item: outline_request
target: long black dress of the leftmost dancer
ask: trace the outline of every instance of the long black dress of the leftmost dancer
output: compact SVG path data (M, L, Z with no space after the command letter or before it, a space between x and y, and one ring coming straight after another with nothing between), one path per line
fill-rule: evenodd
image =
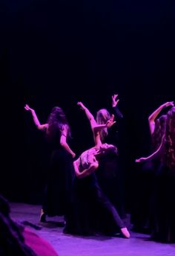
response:
M67 214L74 175L72 156L60 145L60 135L58 129L49 141L51 153L43 210L50 217Z

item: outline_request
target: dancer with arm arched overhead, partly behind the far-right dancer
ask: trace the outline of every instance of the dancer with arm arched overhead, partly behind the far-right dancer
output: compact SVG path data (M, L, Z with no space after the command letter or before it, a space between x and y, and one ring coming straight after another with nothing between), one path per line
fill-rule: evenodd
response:
M162 141L162 135L165 134L166 115L161 115L163 109L168 106L174 106L172 101L163 103L148 117L148 124L151 133L151 150L155 151ZM159 117L159 118L158 118ZM134 195L131 213L131 222L133 230L141 233L150 233L153 222L153 194L156 171L159 170L159 159L146 161L139 170L139 187ZM138 174L137 174L138 177ZM149 184L149 185L148 185ZM137 191L139 190L139 194Z

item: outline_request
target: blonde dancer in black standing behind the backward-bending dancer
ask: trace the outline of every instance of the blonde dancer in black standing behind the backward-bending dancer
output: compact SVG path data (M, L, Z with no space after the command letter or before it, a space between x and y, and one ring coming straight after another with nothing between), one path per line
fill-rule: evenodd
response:
M102 143L114 144L118 149L118 156L115 159L109 157L103 158L100 170L96 173L99 179L99 184L105 194L110 199L110 202L115 205L119 211L120 217L125 219L125 196L124 196L124 178L125 178L125 118L120 112L118 95L112 95L112 109L111 112L115 116L116 125L111 129L102 129L100 131L100 138ZM110 118L110 113L107 109L99 109L96 113L96 123L105 124ZM110 170L110 171L108 171Z

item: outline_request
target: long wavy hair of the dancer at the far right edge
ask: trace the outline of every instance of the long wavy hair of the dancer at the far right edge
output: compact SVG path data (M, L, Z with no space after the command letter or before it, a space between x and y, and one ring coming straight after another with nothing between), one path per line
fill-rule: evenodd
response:
M165 132L165 165L175 168L175 107L167 114L167 125Z

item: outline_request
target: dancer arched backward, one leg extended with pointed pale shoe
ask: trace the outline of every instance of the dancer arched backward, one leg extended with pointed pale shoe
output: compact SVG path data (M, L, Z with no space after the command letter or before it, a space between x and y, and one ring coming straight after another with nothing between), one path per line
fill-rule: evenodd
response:
M100 130L109 128L115 123L113 121L114 116L112 115L106 124L97 125L88 109L82 103L78 104L85 110L89 118L95 147L86 150L76 161L73 161L76 177L78 178L74 183L76 214L74 214L74 220L73 214L71 214L72 220L70 220L70 225L67 225L66 232L89 234L90 231L94 231L93 224L96 224L96 220L98 220L98 216L96 218L94 214L94 209L99 205L102 211L108 211L109 217L113 218L114 225L120 229L122 235L129 238L130 233L128 229L120 219L116 208L108 200L108 197L105 196L105 193L102 192L94 173L98 169L103 156L111 154L116 157L116 147L111 144L102 144L99 135ZM92 205L94 208L92 208Z

